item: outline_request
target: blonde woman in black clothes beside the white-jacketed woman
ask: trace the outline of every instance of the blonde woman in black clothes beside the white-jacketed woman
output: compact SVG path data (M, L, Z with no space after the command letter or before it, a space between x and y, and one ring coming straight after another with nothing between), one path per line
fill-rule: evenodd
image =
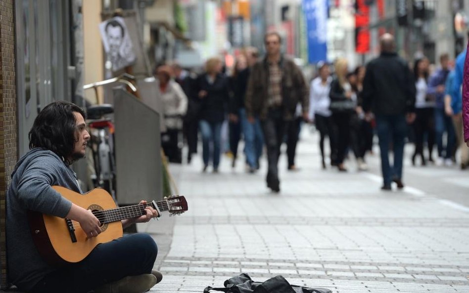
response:
M347 59L338 58L334 67L335 78L330 84L329 108L337 134L337 167L339 171L347 171L343 162L350 141L350 119L356 107L357 97L347 81Z

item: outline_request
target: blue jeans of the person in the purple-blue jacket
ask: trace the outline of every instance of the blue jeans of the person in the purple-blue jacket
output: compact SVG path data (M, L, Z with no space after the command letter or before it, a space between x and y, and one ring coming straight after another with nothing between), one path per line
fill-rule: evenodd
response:
M443 133L446 131L446 146L443 146ZM444 109L435 109L435 135L438 146L438 157L451 159L454 153L456 134L453 119L445 114Z

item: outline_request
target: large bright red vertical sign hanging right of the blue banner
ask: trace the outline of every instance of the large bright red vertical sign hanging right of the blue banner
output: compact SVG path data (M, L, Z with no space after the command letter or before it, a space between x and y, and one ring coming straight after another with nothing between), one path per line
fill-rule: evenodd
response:
M365 54L370 51L370 8L365 0L356 0L355 8L355 51Z

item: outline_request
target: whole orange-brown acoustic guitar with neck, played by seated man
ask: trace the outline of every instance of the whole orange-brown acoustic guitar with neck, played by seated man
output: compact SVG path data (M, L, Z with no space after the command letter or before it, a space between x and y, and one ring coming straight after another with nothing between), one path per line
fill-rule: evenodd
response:
M135 218L146 213L145 207L153 207L171 214L188 210L184 196L165 197L147 205L132 205L117 208L111 195L96 188L85 195L60 186L52 186L64 198L77 206L92 210L101 225L101 233L88 238L77 221L64 219L36 211L28 211L28 221L34 243L39 253L51 265L61 266L83 260L100 243L123 236L121 220Z

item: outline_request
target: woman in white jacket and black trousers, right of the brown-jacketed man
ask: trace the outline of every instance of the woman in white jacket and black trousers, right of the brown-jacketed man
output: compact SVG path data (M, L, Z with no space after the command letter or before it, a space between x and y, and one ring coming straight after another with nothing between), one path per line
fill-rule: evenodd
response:
M330 77L329 65L325 62L318 63L319 76L311 82L310 86L310 119L314 121L316 128L319 130L321 139L319 140L319 148L321 150L322 167L326 168L324 156L324 139L329 137L330 145L330 163L332 166L336 164L337 149L335 143L335 135L331 112L329 110L330 98L329 90L332 78Z

